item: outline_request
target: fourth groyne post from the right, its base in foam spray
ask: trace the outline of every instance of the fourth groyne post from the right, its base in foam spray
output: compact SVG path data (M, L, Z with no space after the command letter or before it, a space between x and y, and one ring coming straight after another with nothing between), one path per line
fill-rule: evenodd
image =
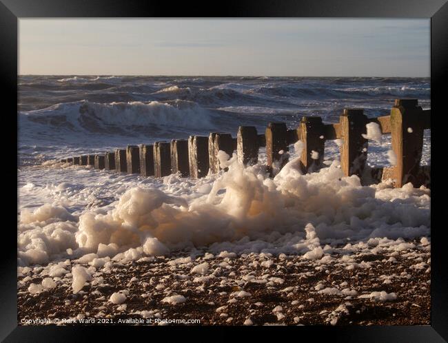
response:
M272 176L274 163L280 162L280 169L287 163L287 127L285 123L269 123L266 128L267 171ZM284 156L283 156L284 155Z

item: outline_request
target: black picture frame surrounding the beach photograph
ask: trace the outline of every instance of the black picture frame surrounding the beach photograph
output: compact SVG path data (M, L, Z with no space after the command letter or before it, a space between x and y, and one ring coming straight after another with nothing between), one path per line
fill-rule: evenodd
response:
M201 8L201 10L198 10ZM137 0L0 0L0 75L3 85L3 118L17 113L17 58L18 19L29 17L387 17L431 18L431 112L443 114L444 82L448 80L448 3L447 0L278 0L226 1L222 3L190 3ZM432 116L431 120L435 121ZM12 117L13 118L13 117ZM438 118L436 119L439 120ZM2 159L14 160L14 123L3 134ZM431 123L431 127L436 125ZM438 123L438 126L440 124ZM15 131L17 132L17 130ZM438 136L432 132L431 137ZM15 136L17 142L17 136ZM433 144L434 145L434 144ZM431 147L432 149L432 147ZM434 163L434 160L432 161ZM436 161L436 163L438 163ZM6 163L8 164L8 163ZM6 165L3 165L6 168ZM438 167L432 167L432 172ZM5 169L6 171L6 169ZM440 173L440 171L439 171ZM8 178L17 176L17 168L10 163ZM431 197L438 196L438 179L431 175ZM436 186L434 186L436 185ZM11 185L17 196L17 187ZM434 189L436 191L434 192ZM14 198L14 196L12 197ZM10 201L8 197L8 202ZM433 202L434 203L434 202ZM17 202L16 202L17 204ZM6 204L4 216L11 225L3 225L8 238L3 238L0 277L0 339L4 342L72 342L92 339L92 328L70 326L17 326L17 225L16 204ZM17 211L17 207L15 209ZM437 216L432 211L431 216ZM440 216L440 214L439 214ZM8 221L9 222L9 221ZM430 326L298 326L294 332L328 335L342 342L444 342L448 340L448 269L442 262L445 250L445 225L431 229L431 325ZM6 237L6 236L3 236ZM6 240L8 239L8 240ZM103 340L114 337L119 329L129 327L96 327ZM159 330L163 328L141 328ZM176 328L165 328L167 333ZM189 328L187 328L189 329ZM246 330L248 328L245 328ZM149 331L145 333L150 334ZM152 334L152 333L151 333ZM297 333L294 333L296 335ZM147 336L149 339L149 336ZM277 336L280 338L281 336ZM299 337L303 336L296 336Z

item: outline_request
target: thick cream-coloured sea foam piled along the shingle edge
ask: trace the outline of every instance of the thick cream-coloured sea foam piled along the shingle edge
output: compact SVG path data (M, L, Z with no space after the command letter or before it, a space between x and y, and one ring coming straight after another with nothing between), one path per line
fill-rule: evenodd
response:
M326 242L429 236L430 191L425 187L363 186L357 176L344 177L337 160L303 175L293 158L272 179L263 165L245 168L235 154L230 160L225 154L219 158L229 170L213 176L206 191L195 196L138 186L107 211L85 209L78 217L49 204L22 211L19 265L88 254L88 262L107 256L136 260L204 245L211 253L320 258Z

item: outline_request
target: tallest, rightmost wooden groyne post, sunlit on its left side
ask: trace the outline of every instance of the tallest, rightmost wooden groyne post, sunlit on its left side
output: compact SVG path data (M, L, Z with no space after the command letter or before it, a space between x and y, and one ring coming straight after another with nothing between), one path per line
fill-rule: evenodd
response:
M424 120L417 99L396 99L390 114L392 149L396 156L393 168L395 187L424 182L420 160L423 148ZM419 175L420 174L420 175Z

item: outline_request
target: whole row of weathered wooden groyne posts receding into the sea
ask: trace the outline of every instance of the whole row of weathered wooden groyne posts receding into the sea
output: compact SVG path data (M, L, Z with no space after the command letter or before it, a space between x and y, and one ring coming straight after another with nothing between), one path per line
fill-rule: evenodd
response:
M391 134L396 156L393 167L366 168L368 140L363 134L367 132L366 124L371 122L379 125L382 134ZM128 145L126 149L105 154L63 158L61 162L156 178L178 172L184 177L202 178L209 171L220 171L217 157L220 150L229 156L236 150L240 163L253 165L258 162L258 150L265 147L267 171L272 175L274 165L281 168L287 163L288 146L300 140L301 169L307 173L323 167L325 141L340 139L340 167L345 176L356 174L363 182L367 171L370 182L390 178L394 187L409 182L414 187L430 187L431 166L420 166L423 131L430 129L430 122L431 110L422 110L416 99L396 99L388 116L367 118L362 109L345 109L336 124L325 124L319 116L304 116L296 129L287 129L285 123L269 123L265 134L258 134L253 126L240 126L236 138L212 132L208 137Z

